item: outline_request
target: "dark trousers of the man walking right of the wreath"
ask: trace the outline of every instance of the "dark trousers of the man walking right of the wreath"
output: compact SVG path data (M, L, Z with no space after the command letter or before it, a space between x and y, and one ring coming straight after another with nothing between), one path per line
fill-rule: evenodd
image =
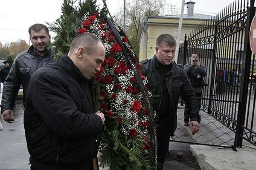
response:
M169 149L170 142L170 133L168 125L165 127L157 127L157 142L157 170L163 170L163 164Z

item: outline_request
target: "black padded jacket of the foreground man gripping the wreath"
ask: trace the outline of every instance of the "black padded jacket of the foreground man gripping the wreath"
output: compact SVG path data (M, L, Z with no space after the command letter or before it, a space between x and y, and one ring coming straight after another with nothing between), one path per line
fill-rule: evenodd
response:
M33 74L24 111L26 142L33 159L52 169L70 166L73 170L88 164L96 156L94 135L102 126L101 118L93 113L87 79L67 55Z

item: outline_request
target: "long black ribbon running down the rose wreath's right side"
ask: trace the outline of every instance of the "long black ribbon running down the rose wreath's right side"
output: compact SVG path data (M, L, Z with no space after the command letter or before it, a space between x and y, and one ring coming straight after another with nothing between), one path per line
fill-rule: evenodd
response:
M156 167L157 164L157 135L156 135L156 124L154 122L154 111L153 111L153 107L150 104L148 97L145 93L145 87L143 84L143 80L140 77L140 73L138 71L137 65L136 65L136 61L135 61L135 55L133 55L132 51L127 47L127 45L125 45L125 43L122 41L121 36L126 37L124 31L122 31L121 28L118 28L119 31L117 30L116 26L114 25L113 21L110 20L106 15L104 15L104 19L107 21L108 26L110 29L112 29L113 31L113 35L116 39L116 42L120 45L120 47L122 48L122 52L125 56L125 58L129 61L132 70L134 71L134 76L137 79L137 82L139 84L140 87L140 91L145 103L145 107L147 108L148 111L148 118L149 118L149 132L150 132L150 141L151 141L151 154L152 154L152 162L153 162L153 166ZM128 42L128 44L131 47L131 44ZM139 61L137 59L137 61Z

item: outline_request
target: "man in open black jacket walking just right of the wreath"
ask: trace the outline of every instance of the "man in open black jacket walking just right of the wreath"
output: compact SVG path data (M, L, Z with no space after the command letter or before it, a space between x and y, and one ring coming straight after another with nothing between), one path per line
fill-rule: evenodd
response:
M190 108L192 135L199 130L200 115L195 90L183 66L173 61L175 48L175 38L170 34L161 34L156 40L154 57L142 61L142 71L148 79L148 88L154 89L160 96L153 105L159 118L157 123L158 170L163 169L170 136L174 136L177 127L177 105L180 95Z

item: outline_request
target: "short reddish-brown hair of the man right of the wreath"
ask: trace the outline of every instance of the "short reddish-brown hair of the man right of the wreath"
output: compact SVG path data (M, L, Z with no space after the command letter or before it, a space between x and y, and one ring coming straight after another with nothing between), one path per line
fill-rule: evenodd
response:
M175 37L170 34L161 34L157 37L156 46L168 45L169 47L173 47L177 45Z

